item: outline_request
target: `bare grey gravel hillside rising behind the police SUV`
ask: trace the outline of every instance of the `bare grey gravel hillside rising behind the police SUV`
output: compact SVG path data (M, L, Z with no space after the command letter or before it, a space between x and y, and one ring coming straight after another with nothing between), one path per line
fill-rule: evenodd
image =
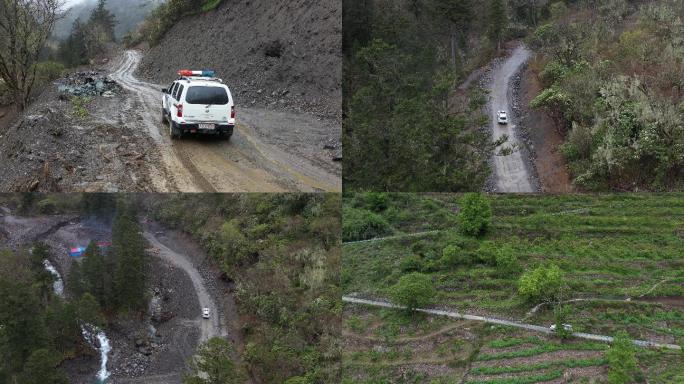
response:
M214 69L238 105L337 116L341 14L339 0L226 0L178 22L139 76L166 84L181 68Z

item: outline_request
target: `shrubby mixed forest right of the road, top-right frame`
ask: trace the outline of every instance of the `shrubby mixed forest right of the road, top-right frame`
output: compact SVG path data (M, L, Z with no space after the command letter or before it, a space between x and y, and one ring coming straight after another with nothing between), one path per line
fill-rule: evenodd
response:
M551 5L529 37L574 182L588 189L681 189L684 1Z

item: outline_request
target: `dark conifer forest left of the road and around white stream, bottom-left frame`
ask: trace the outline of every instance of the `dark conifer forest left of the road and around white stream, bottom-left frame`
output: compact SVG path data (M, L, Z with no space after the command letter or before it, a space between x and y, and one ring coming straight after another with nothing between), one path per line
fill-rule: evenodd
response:
M93 354L82 336L83 324L105 327L147 308L147 257L137 209L113 195L97 194L65 199L27 194L18 205L25 215L66 211L102 214L107 220L116 212L111 249L105 255L95 244L88 246L83 261L73 264L64 298L53 292L54 277L43 264L50 252L46 245L0 250L0 382L67 383L59 365Z

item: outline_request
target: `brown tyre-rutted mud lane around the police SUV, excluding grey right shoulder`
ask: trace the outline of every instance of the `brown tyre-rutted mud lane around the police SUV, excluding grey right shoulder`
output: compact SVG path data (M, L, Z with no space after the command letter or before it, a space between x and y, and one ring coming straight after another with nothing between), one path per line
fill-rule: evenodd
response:
M124 104L125 115L139 116L132 124L149 133L159 148L166 175L170 180L155 182L155 189L180 192L285 192L338 190L335 183L317 180L310 174L319 170L299 172L297 161L288 165L276 149L259 143L249 129L238 125L230 142L215 138L191 138L172 141L164 132L161 120L161 86L136 79L133 73L142 55L126 51L114 63L111 78L136 98L132 105ZM140 104L136 108L135 104ZM142 117L142 119L140 119ZM126 120L125 117L121 118ZM276 157L271 157L269 153ZM285 158L289 161L289 158Z

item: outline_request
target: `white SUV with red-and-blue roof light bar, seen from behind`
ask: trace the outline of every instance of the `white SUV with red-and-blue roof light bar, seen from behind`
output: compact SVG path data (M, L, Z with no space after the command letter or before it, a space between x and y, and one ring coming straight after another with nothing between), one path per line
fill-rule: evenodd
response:
M214 134L229 139L235 129L235 104L230 89L214 71L178 71L162 89L162 121L172 139L187 133Z

